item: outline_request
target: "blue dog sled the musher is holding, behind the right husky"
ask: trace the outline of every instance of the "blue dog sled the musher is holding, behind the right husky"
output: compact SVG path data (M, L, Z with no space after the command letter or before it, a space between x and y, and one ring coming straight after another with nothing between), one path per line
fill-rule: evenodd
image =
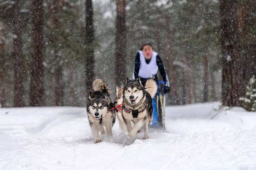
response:
M150 127L165 130L165 82L157 82L157 95L152 99L153 117Z

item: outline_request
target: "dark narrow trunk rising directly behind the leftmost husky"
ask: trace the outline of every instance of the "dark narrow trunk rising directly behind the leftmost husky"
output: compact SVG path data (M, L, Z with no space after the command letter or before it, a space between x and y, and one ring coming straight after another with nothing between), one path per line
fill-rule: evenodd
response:
M94 33L92 0L85 0L85 83L86 91L92 89L94 80Z

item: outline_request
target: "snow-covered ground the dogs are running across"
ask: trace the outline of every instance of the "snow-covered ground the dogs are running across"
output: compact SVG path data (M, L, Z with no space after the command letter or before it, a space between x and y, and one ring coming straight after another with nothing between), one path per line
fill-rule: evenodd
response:
M94 144L85 108L0 108L0 170L256 170L256 113L173 106L166 128Z

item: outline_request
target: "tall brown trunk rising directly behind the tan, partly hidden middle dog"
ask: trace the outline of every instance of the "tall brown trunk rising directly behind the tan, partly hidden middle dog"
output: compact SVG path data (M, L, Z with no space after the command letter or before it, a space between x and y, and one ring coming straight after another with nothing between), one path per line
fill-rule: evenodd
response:
M126 1L116 0L117 15L116 15L116 51L115 51L115 82L121 87L126 83Z

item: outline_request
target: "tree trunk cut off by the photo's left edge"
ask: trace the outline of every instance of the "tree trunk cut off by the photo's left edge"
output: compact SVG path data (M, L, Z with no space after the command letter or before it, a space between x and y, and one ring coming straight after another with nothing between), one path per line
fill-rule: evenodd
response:
M7 73L5 60L5 43L0 39L0 105L6 107L6 91L7 91Z

